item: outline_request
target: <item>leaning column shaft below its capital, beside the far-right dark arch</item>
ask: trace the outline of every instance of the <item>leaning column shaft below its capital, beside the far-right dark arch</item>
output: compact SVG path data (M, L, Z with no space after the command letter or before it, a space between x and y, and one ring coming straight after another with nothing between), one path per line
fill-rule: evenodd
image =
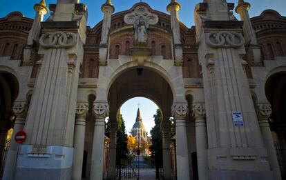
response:
M267 148L268 161L270 163L271 170L273 171L274 179L280 180L281 179L280 169L278 165L276 150L274 148L274 141L273 141L272 134L269 128L268 120L258 119L258 121L259 121L260 131L263 137L263 141Z

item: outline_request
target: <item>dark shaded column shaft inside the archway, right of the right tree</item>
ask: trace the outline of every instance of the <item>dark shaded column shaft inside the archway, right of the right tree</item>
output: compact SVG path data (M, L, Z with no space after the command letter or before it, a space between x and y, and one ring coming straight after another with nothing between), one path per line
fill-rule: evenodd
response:
M165 180L171 180L171 149L170 149L170 122L165 120L161 123L163 140L163 173Z

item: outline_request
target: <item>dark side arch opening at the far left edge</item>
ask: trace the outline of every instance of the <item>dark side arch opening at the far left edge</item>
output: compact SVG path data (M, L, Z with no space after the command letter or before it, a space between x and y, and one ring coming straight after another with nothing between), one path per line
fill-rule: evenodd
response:
M6 162L15 115L12 104L19 93L17 78L9 72L0 72L0 177Z

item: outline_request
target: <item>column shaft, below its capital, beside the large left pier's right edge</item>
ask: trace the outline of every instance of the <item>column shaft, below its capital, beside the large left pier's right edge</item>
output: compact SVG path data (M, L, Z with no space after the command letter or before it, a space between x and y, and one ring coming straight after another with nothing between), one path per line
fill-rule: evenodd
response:
M73 180L82 179L82 163L84 160L84 134L86 131L86 119L75 119L75 137L73 153Z

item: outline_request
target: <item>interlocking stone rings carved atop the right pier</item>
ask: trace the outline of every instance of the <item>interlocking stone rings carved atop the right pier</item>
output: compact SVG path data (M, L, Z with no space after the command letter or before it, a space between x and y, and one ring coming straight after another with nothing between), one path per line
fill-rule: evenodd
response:
M212 48L240 48L245 44L242 34L237 32L209 32L206 36Z

